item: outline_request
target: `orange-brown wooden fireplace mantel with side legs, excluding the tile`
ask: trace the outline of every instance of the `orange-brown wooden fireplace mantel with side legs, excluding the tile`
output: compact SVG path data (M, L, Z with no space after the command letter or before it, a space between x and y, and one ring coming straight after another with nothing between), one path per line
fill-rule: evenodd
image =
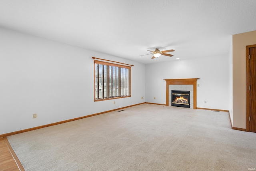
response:
M199 78L164 79L166 81L166 105L169 105L169 85L193 85L194 105L196 109L196 81Z

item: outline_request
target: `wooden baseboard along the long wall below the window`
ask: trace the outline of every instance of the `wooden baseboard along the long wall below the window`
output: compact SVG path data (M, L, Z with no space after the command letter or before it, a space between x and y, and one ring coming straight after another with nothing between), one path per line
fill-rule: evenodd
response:
M130 105L130 106L126 106L126 107L120 107L120 108L118 108L118 109L103 111L103 112L100 112L100 113L94 113L94 114L92 114L92 115L86 115L86 116L77 117L77 118L74 118L74 119L68 119L68 120L65 120L65 121L60 121L60 122L55 122L55 123L50 123L50 124L42 125L42 126L38 126L38 127L32 127L32 128L28 128L28 129L23 129L23 130L20 130L20 131L5 133L5 134L0 135L0 137L7 137L7 136L15 135L15 134L18 134L18 133L23 133L23 132L27 132L27 131L32 131L32 130L36 130L36 129L40 129L40 128L44 128L44 127L50 127L50 126L53 126L53 125L58 125L58 124L61 124L61 123L66 123L66 122L70 122L70 121L75 121L75 120L78 120L78 119L84 119L84 118L86 118L86 117L91 117L91 116L95 116L95 115L100 115L100 114L103 114L103 113L108 113L108 112L111 112L111 111L116 111L116 110L124 109L124 108L127 108L127 107L132 107L132 106L136 106L136 105L141 105L141 104L144 104L144 103L138 103L138 104L135 104L135 105Z

